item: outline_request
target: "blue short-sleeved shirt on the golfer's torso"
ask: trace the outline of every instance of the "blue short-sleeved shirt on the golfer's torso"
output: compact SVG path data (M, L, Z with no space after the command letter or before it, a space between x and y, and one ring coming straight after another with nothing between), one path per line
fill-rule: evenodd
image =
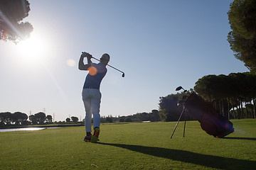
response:
M90 63L89 66L94 67L92 69L96 70L96 74L95 75L90 74L90 70L89 70L89 73L87 74L87 77L85 79L85 84L83 86L83 89L89 88L89 87L100 89L100 83L102 79L105 77L105 75L107 74L106 65L99 62L98 64Z

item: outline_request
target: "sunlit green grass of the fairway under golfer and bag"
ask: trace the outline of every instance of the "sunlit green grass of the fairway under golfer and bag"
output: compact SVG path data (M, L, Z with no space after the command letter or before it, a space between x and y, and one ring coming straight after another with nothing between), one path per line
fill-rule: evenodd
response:
M0 132L0 169L255 169L256 120L231 120L235 132L207 135L197 121L102 124L100 143L84 127Z

